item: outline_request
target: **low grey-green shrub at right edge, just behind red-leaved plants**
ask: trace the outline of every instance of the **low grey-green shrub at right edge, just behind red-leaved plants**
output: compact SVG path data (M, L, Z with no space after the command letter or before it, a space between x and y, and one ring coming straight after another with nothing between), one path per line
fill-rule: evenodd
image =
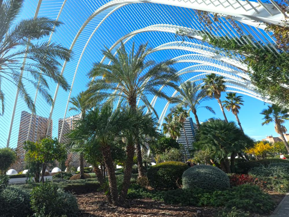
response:
M289 178L289 164L288 163L271 163L268 167L261 165L259 167L252 168L248 172L251 175L263 176L263 177L277 177L277 178Z

